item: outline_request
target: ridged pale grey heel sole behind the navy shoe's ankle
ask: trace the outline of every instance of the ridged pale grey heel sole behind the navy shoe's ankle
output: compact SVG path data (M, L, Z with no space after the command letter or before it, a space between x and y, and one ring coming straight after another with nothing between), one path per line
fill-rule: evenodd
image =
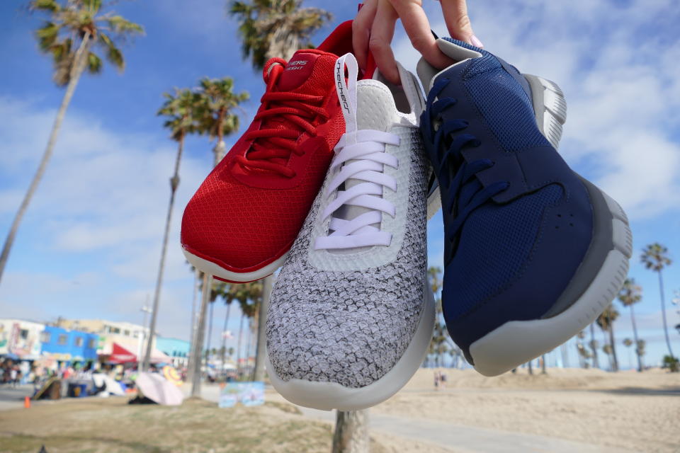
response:
M543 77L523 74L529 86L536 124L545 138L557 149L562 139L562 125L567 121L567 101L557 84Z

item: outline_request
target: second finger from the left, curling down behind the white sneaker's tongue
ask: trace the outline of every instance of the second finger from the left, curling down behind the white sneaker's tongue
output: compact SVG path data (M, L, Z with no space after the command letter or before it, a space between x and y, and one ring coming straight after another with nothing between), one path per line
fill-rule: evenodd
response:
M368 48L385 79L392 84L399 84L399 70L392 47L390 47L392 38L395 36L395 23L397 23L397 12L390 2L378 0L378 11L375 11L373 27L370 28Z

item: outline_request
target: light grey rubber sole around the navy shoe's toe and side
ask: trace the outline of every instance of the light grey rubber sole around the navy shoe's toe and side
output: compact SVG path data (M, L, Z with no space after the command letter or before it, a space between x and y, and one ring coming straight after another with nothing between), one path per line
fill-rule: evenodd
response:
M572 306L548 319L509 321L470 345L475 369L497 376L565 343L591 322L616 297L628 273L633 235L616 201L602 193L613 216L613 249L584 294Z

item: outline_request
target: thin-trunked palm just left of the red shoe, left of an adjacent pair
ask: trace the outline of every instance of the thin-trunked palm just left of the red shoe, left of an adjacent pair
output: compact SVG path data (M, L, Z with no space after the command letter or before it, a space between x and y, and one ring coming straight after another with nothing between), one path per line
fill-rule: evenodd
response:
M158 265L158 276L156 279L156 289L154 291L154 305L151 312L151 323L149 324L149 340L142 362L142 371L146 370L151 360L153 339L156 332L156 319L158 316L158 305L161 298L161 287L163 284L163 273L165 271L165 257L168 248L168 237L170 234L170 223L172 220L172 209L175 204L175 193L179 186L179 164L184 151L184 139L187 134L196 132L196 120L193 110L196 106L196 95L188 89L180 90L175 88L175 94L164 93L165 102L158 110L158 115L166 117L163 126L170 130L170 137L177 142L177 154L175 156L174 173L170 178L170 201L168 202L168 214L165 218L165 231L163 233L163 246L161 248L161 260ZM199 349L200 351L200 349Z

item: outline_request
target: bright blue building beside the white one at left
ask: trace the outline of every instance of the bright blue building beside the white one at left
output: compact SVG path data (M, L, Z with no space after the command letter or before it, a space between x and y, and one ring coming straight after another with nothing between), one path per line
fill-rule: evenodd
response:
M99 336L96 333L72 331L67 328L45 326L40 337L42 355L57 362L96 362Z

